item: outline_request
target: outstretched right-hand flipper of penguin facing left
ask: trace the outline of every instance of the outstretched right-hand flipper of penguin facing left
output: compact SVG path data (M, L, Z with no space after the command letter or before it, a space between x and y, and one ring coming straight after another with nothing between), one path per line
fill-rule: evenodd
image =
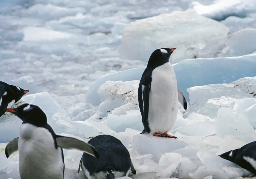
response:
M99 158L99 152L90 144L72 137L56 136L57 145L63 149L77 149Z

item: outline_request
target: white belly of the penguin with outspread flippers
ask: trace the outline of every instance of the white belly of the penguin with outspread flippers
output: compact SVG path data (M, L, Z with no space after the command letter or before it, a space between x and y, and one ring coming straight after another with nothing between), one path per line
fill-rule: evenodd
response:
M19 159L21 179L63 179L61 148L55 148L53 137L45 128L22 124Z

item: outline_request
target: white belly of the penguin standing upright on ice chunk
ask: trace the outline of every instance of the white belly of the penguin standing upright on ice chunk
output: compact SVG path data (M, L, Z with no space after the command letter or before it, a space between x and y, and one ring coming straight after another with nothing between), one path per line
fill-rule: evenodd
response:
M149 93L149 128L151 133L172 129L178 115L177 80L170 62L152 72Z

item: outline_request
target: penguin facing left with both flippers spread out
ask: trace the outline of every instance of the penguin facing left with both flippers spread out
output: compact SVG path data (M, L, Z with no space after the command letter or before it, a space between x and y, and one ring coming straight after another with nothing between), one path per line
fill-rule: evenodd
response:
M19 171L21 179L63 179L63 149L78 149L93 157L99 157L98 151L91 145L75 138L55 134L45 113L32 104L22 104L7 109L22 121L20 137L13 139L5 148L8 158L19 150Z

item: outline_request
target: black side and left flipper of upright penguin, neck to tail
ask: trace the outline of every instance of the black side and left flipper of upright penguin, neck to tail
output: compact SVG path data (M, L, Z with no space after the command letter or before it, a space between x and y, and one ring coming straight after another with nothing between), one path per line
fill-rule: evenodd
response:
M140 85L138 89L138 99L139 99L139 106L140 106L140 112L142 116L142 123L144 126L144 130L141 134L149 133L149 125L148 125L148 114L149 114L149 92L151 88L151 74L152 71L145 69L141 80Z

